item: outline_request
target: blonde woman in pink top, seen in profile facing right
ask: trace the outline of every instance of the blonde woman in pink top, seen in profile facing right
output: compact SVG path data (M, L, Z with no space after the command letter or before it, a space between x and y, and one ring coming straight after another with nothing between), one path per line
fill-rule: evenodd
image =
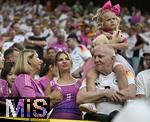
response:
M34 75L39 72L41 64L42 60L38 58L35 50L26 49L19 54L14 69L17 75L12 87L14 97L45 97L45 94L38 85L38 81L34 79ZM56 94L58 98L61 98L61 94L56 91L51 96L56 97ZM51 99L50 95L47 96ZM24 101L19 101L18 105L24 109ZM30 108L27 109L30 110ZM30 112L28 114L30 115Z

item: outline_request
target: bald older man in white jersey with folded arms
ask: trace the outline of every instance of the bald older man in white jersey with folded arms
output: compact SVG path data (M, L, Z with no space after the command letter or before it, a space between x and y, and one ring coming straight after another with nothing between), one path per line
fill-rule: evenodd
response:
M112 112L120 111L123 103L135 96L134 75L132 72L126 73L128 87L119 91L117 78L113 72L115 51L106 45L102 45L95 49L94 60L98 72L98 78L95 81L97 91L86 91L86 83L83 82L77 95L77 103L96 102L97 114L88 114L90 117L87 119L109 121Z

